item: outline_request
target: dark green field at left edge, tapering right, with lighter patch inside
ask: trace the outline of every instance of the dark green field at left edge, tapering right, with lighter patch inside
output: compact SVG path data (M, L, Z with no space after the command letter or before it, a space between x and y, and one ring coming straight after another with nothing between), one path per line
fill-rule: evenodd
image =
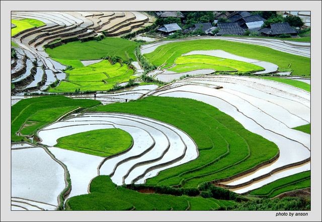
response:
M40 96L23 99L11 107L11 140L21 141L23 136L16 133L33 134L67 112L78 107L89 108L101 104L99 101L64 96Z

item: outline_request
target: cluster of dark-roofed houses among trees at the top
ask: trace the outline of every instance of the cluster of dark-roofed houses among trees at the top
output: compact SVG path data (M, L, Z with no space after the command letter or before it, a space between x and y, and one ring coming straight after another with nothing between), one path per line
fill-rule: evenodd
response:
M159 12L157 16L160 18L180 18L184 22L185 16L181 12ZM220 19L224 19L228 22L221 23ZM266 20L259 15L251 15L246 11L238 12L221 12L215 17L212 23L197 23L189 28L182 29L177 23L165 24L157 29L163 35L171 35L172 33L182 30L183 33L189 33L194 31L202 31L207 35L244 35L246 30L251 33L257 32L264 36L277 36L282 34L297 35L297 31L293 29L287 22L270 24L269 26L262 28Z

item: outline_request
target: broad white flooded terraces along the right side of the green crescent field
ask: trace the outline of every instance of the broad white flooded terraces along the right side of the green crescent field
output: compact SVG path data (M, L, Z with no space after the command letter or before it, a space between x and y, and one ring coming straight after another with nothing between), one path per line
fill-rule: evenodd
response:
M213 86L222 86L223 89L216 90ZM283 92L276 91L276 88L282 89ZM252 91L254 93L250 94ZM265 102L267 94L271 99L274 96L279 98L277 99L276 97L274 102ZM278 82L263 81L256 78L213 76L188 78L176 82L172 86L170 85L159 92L153 93L153 95L186 97L203 101L229 114L247 129L262 135L278 145L280 154L274 164L271 164L267 168L263 167L249 174L247 177L240 177L240 179L224 182L223 184L228 187L236 188L247 185L250 180L267 174L268 172L274 172L282 166L309 160L309 135L300 131L294 131L291 128L305 123L307 124L310 121L310 96L306 91L289 87L288 85L279 85ZM283 100L285 101L284 103L282 103ZM299 106L302 108L299 109ZM305 109L307 111L304 111ZM278 129L276 128L277 125L279 125ZM287 145L290 143L292 145ZM285 147L285 150L283 147ZM289 147L292 147L293 157L290 157ZM300 168L298 170L303 169ZM210 178L211 175L199 178L199 183L201 181L210 181ZM197 185L198 182L190 182L189 184ZM185 186L189 184L186 183ZM256 186L255 184L256 182L254 186ZM258 183L258 185L260 184ZM251 187L245 189L240 188L240 192L246 192L246 189L251 189ZM235 192L239 191L235 190Z

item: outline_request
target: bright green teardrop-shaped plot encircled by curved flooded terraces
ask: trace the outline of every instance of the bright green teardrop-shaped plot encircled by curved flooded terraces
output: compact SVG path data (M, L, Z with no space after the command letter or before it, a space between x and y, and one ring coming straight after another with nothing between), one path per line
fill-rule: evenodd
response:
M122 129L97 129L61 137L55 146L108 157L127 150L132 143L132 136Z

